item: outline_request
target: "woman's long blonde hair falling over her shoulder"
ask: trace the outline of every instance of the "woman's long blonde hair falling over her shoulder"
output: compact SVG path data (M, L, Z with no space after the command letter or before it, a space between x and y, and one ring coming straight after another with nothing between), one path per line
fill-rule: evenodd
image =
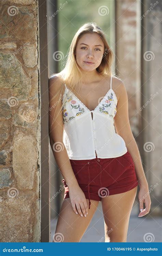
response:
M69 95L69 93L67 95L65 95L65 94L63 95L63 91L65 89L65 84L68 85L68 88L70 88L70 91L75 92L76 85L77 85L77 89L80 90L80 88L82 87L82 85L84 83L84 76L83 76L83 74L78 66L78 63L76 61L75 51L76 51L78 40L85 33L97 33L100 36L100 38L103 40L104 54L103 54L102 61L101 61L100 65L96 68L96 71L101 75L102 74L108 75L108 76L112 75L111 65L113 63L114 55L112 53L111 48L109 47L109 45L107 43L107 40L106 40L106 37L104 35L102 28L97 26L97 24L95 22L88 22L88 23L83 24L79 28L79 30L76 32L75 36L72 39L71 45L70 45L68 53L67 53L67 60L65 61L65 67L59 73L61 76L61 80L62 80L62 86L61 86L60 90L58 91L58 93L60 93L60 96L62 97L63 105ZM56 97L56 95L54 95L54 97ZM62 109L60 109L60 111L61 110Z

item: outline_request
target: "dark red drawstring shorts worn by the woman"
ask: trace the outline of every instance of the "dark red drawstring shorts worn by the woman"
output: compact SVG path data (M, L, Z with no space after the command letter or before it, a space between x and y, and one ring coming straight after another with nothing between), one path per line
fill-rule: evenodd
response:
M70 159L72 170L80 188L89 199L101 201L102 197L129 191L138 185L132 156L127 151L116 158L96 158L91 160ZM64 199L69 198L66 181Z

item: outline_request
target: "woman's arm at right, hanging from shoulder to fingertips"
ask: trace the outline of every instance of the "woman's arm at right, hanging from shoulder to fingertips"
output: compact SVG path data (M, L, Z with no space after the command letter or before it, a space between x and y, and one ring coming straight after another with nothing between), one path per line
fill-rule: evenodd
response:
M120 82L119 82L120 81ZM137 143L134 139L128 114L128 97L124 83L118 79L117 95L119 95L117 104L117 113L114 117L114 125L116 132L124 139L127 151L131 154L136 176L139 184L139 209L142 211L139 213L139 217L146 215L150 211L151 199L149 194L149 188L147 179L142 166ZM144 209L145 203L145 209Z

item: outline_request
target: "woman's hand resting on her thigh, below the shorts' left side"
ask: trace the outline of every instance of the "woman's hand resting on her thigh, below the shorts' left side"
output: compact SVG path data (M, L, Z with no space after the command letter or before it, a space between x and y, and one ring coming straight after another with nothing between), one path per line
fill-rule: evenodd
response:
M88 214L88 205L85 195L79 185L69 190L69 197L71 200L72 209L75 211L75 213L78 214L79 212L81 217L83 217L83 215L86 217L86 214Z

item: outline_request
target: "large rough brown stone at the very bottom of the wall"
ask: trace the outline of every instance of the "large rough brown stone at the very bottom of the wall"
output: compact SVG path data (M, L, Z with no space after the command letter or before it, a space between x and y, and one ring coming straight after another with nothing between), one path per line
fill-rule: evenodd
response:
M40 242L39 199L32 191L17 191L1 196L0 242Z

